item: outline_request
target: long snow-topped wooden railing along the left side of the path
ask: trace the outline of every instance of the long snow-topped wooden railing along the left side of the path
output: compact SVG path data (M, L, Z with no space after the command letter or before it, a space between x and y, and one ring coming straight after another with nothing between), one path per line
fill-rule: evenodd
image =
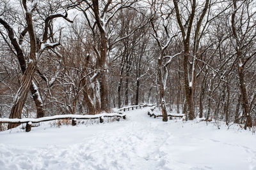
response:
M135 106L129 106L125 108L120 108L118 111L125 111L125 110L134 110L134 108L145 108L147 106L155 106L156 104L138 104ZM0 118L0 124L26 124L26 132L31 131L32 124L40 123L40 122L47 122L51 120L63 120L63 119L72 119L72 125L77 125L77 119L97 119L99 118L100 123L104 122L104 117L116 117L117 121L120 118L126 119L126 115L122 112L118 113L102 113L98 115L56 115L52 117L42 117L42 118Z

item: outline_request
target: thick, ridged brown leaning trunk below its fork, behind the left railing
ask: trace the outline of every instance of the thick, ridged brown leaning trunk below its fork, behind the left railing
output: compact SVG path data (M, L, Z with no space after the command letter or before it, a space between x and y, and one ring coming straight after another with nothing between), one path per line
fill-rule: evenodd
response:
M31 86L32 78L36 70L35 62L29 62L25 73L22 76L20 88L16 94L15 101L12 106L9 118L21 118L22 109L28 97L29 88ZM17 127L19 124L8 124L8 129Z

